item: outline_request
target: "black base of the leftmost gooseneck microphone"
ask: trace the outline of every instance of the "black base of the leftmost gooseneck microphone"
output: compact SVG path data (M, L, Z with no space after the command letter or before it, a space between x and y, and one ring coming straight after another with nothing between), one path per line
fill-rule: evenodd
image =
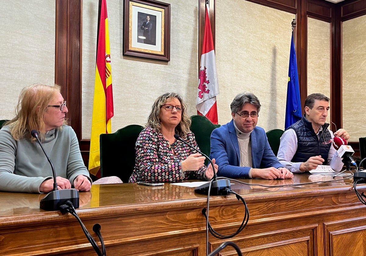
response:
M79 191L76 189L60 189L49 192L40 201L40 208L46 211L58 211L60 205L70 200L74 208L79 208Z

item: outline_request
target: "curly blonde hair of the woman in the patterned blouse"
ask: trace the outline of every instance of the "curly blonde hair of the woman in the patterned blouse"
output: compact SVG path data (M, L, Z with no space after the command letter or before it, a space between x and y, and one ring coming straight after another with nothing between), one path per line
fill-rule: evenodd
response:
M187 133L189 131L189 128L191 126L191 117L187 114L187 105L184 103L183 97L178 93L165 93L158 97L151 109L150 115L147 118L146 127L153 128L157 133L161 132L161 125L160 125L160 112L161 112L161 106L163 106L165 103L167 103L169 100L176 98L179 100L180 105L182 105L182 119L180 120L180 123L175 128L176 133L182 137L186 138Z

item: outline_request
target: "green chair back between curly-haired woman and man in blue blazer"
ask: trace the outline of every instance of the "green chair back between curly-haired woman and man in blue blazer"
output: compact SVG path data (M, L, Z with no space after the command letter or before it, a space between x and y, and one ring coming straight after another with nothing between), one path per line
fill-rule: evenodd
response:
M220 127L220 124L213 124L204 116L194 115L191 116L192 124L190 130L194 133L196 142L202 153L210 156L211 143L210 136L214 129ZM205 160L205 165L208 164L208 160Z

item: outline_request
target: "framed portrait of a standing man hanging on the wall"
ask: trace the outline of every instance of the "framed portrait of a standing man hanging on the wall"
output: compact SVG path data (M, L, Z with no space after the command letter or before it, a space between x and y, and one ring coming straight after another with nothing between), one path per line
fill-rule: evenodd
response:
M124 0L123 54L170 60L170 4Z

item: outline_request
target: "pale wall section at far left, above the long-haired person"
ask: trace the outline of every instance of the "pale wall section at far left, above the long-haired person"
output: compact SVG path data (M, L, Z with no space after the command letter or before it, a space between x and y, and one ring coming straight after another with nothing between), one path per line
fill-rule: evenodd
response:
M55 1L1 1L0 119L14 117L20 90L55 83Z

